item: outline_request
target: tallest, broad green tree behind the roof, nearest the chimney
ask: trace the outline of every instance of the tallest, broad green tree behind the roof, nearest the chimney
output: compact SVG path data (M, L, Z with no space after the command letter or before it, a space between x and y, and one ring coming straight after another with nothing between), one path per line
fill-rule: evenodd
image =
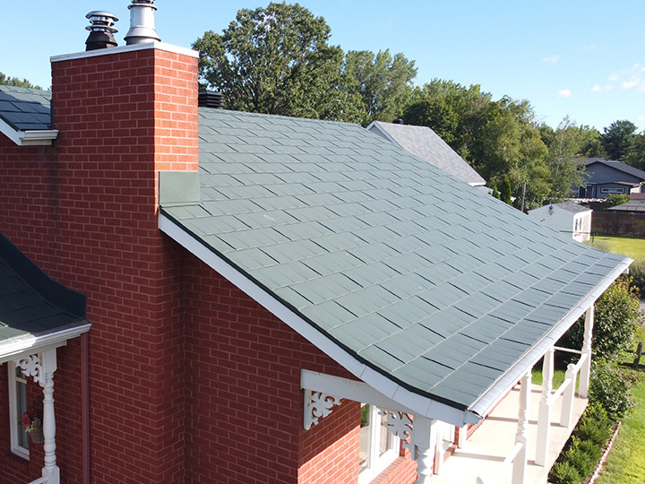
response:
M342 50L328 45L330 27L299 4L242 9L219 35L197 39L202 82L228 108L295 117L352 117L340 90ZM348 114L350 113L350 114Z

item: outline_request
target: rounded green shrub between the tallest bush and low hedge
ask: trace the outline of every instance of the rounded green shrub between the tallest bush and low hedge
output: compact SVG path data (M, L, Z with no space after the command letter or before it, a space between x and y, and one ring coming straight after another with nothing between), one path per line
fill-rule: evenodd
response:
M634 406L636 376L606 361L596 362L589 378L589 402L598 402L610 419L621 419Z

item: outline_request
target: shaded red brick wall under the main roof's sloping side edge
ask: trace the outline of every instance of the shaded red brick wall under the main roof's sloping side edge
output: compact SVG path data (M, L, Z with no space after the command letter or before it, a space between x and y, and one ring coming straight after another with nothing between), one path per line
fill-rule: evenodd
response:
M300 368L347 371L193 256L185 297L186 482L305 483L300 454L325 426L303 428ZM332 441L356 433L358 415Z

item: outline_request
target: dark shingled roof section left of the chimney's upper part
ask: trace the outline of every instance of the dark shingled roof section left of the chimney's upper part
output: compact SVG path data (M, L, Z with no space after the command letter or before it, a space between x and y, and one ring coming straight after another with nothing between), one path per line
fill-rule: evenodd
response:
M17 131L51 129L51 92L0 85L0 118Z

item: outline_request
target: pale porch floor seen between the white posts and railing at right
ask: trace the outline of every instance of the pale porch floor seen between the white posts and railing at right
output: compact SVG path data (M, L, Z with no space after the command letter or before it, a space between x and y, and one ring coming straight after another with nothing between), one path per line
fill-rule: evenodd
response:
M570 428L562 428L557 423L560 420L562 397L555 402L552 410L551 443L547 465L540 467L535 463L536 439L538 434L538 404L541 389L533 385L529 407L529 464L527 466L526 484L544 484L548 471L560 454L564 444L571 435L572 429L580 419L587 406L587 400L576 397L573 403L573 419ZM511 453L515 445L517 419L519 412L520 385L495 408L485 422L477 428L463 449L457 449L445 462L439 475L431 478L432 484L475 484L477 476L487 479L495 476L503 460ZM511 484L512 465L509 465L497 484Z

